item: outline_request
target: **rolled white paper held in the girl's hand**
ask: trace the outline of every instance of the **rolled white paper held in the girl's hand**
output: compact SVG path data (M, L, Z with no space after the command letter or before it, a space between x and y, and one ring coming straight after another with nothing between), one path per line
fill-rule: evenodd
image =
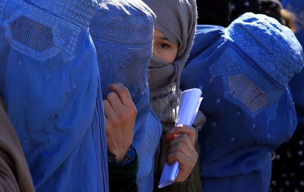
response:
M192 126L203 99L201 95L201 89L197 88L188 89L181 93L175 126L180 124ZM172 184L178 175L178 170L178 161L175 161L171 165L168 165L167 162L165 162L158 187L163 188Z

